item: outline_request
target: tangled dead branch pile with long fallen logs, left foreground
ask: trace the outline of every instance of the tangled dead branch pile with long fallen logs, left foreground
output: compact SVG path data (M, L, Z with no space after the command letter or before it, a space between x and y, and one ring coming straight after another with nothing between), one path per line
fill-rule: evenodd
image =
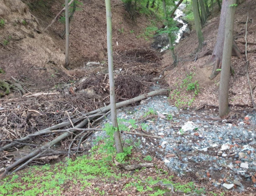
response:
M168 93L167 89L160 89L158 91L142 94L133 99L117 103L117 108L133 104L150 96L166 93ZM38 108L36 104L39 104L38 102L41 97L36 98L37 99L30 97L30 107L34 107L34 109L26 107L20 108L20 106L17 105L17 102L20 104L22 100L24 101L26 99L25 97L22 98L21 102L19 99L0 99L1 105L4 106L1 106L0 110L0 123L3 125L3 133L5 133L4 135L1 133L0 136L0 158L2 161L0 178L3 178L8 173L18 171L30 163L44 162L44 160L47 159L46 157L49 158L49 156L51 156L51 158L56 158L62 154L68 154L68 157L70 155L75 156L77 152L84 150L81 144L86 137L93 133L93 131L101 130L94 128L94 125L110 111L110 106L106 106L93 110L92 112L79 112L77 108L72 107L68 109L67 104L62 105L59 110L56 110L56 105L49 105L49 103L48 105L41 104L41 107ZM6 105L4 103L6 103ZM16 103L15 107L7 107L7 105L14 103ZM33 103L35 103L35 106L32 105ZM49 112L49 108L50 110L52 109L51 112ZM17 111L14 113L15 110ZM19 113L20 116L18 116L17 113ZM38 125L41 123L39 119L46 119L49 118L49 116L51 116L50 118L52 122L54 122L52 126L39 129L40 126ZM10 121L7 121L7 119ZM30 128L31 125L32 128ZM61 145L58 149L56 145L59 145L59 143ZM26 149L29 152L19 150L22 146L29 146L30 148ZM15 160L14 154L11 153L11 151L15 149L17 152L25 152L25 154Z

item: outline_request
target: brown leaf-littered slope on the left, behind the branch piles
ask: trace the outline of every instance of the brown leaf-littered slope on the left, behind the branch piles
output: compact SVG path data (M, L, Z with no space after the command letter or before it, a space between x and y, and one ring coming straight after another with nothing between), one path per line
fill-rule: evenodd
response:
M35 0L1 0L0 20L0 67L6 72L2 80L26 81L33 90L49 89L54 84L86 75L88 61L99 61L107 69L107 41L105 3L102 0L81 1L70 25L70 68L65 70L65 40L59 34L64 23L56 22L47 31L43 29L63 8L63 2ZM112 3L113 43L115 55L134 47L146 47L149 43L138 38L151 24L149 16L138 13L132 22L122 1ZM137 36L137 37L136 37ZM118 63L116 63L118 64ZM30 86L31 87L31 86Z

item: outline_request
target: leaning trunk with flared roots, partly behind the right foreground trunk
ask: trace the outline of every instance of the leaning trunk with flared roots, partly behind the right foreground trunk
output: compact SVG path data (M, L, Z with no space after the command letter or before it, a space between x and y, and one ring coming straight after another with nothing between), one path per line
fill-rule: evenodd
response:
M217 34L217 41L215 44L215 47L213 49L212 55L207 63L205 63L205 66L213 66L212 74L210 75L210 79L212 80L215 78L220 71L217 71L217 69L221 68L221 61L223 57L223 46L225 41L225 25L226 25L226 17L228 13L228 2L223 1L222 2L222 9L220 12L220 24L218 27L218 34ZM237 57L241 58L241 53L239 52L239 49L236 45L236 43L233 40L233 55L236 55Z

